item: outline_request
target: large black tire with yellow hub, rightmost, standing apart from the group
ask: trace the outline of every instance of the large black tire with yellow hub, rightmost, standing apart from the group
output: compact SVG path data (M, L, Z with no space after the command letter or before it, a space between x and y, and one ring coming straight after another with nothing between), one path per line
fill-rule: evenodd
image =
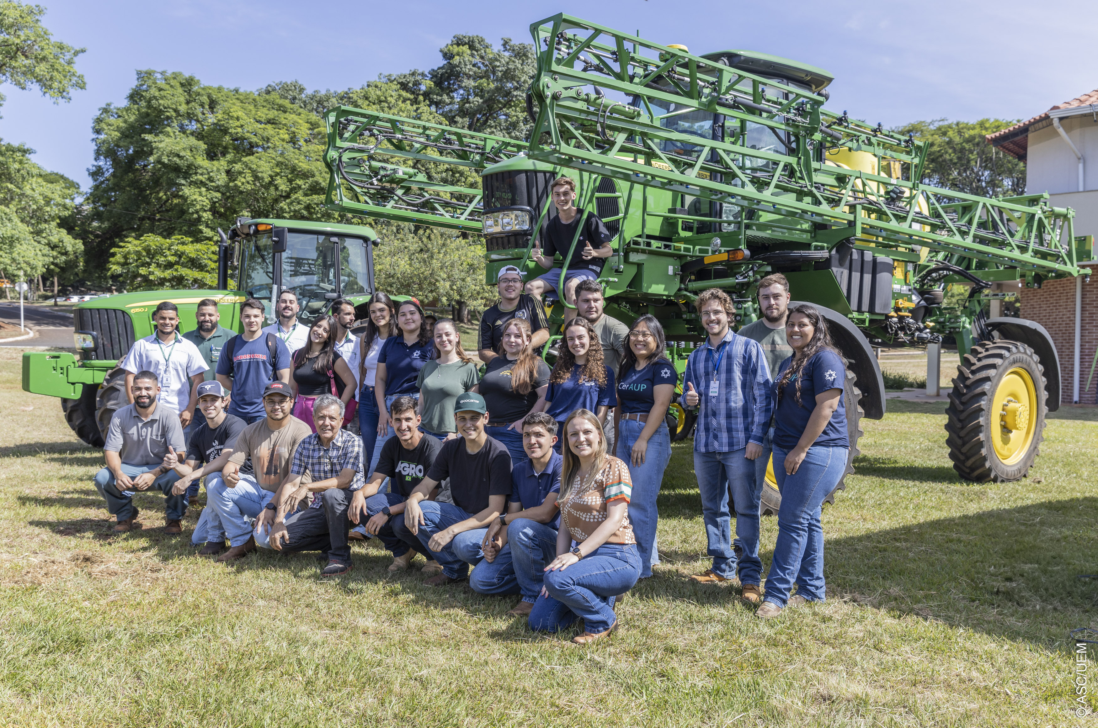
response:
M957 368L945 432L953 469L973 482L1024 478L1044 439L1044 368L1018 341L982 341Z

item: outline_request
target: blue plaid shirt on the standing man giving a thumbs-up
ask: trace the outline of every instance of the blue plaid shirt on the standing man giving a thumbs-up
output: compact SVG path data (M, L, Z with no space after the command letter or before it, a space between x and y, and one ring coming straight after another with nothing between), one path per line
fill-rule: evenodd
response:
M709 395L709 384L719 348L709 346L706 337L686 360L683 391L693 383L701 407L694 433L694 449L698 452L731 452L748 443L762 445L770 427L774 402L762 346L731 329L724 341L715 396Z

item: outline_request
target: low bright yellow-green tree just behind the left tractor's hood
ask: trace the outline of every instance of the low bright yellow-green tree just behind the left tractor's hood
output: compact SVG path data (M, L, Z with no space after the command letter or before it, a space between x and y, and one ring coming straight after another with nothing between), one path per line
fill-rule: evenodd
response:
M111 254L108 272L128 291L216 289L217 244L183 235L130 237Z

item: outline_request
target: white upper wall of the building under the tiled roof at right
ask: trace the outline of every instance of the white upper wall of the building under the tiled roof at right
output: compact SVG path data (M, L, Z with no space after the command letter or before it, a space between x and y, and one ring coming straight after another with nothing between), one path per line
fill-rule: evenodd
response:
M1098 190L1098 122L1087 114L1061 119L1060 124L1086 163L1084 188ZM1050 125L1030 132L1026 191L1030 194L1078 192L1078 161L1055 127Z

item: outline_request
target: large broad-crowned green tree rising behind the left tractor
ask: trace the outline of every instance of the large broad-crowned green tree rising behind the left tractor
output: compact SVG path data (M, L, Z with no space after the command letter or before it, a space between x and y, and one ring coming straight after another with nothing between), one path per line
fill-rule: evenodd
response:
M146 234L216 239L240 214L333 221L318 120L277 93L142 70L124 105L92 124L96 164L81 219L88 272Z

